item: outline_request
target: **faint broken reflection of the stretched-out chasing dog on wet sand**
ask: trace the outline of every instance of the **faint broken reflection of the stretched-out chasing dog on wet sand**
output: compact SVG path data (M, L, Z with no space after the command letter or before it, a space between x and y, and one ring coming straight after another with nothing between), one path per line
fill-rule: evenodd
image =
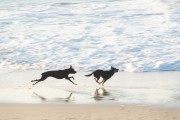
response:
M43 96L41 96L41 95L39 95L39 94L37 94L37 93L33 93L36 97L38 97L38 98L40 98L42 101L48 101L48 99L47 98L45 98L45 97L43 97ZM59 102L66 102L66 103L68 103L68 102L70 102L70 101L72 101L72 95L73 95L73 93L70 93L66 98L56 98L56 99L54 99L54 100L57 100L57 101L59 101Z

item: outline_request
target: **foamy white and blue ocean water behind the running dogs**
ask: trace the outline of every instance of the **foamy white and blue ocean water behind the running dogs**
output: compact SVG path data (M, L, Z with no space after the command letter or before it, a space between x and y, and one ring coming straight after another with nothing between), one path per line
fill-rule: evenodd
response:
M179 0L0 0L0 69L180 70Z

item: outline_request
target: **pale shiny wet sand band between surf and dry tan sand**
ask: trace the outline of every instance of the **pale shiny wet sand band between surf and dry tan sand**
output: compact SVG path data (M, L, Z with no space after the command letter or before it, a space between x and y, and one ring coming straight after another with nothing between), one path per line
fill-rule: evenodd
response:
M0 103L144 104L179 107L180 72L115 74L104 87L87 72L72 75L77 86L66 80L48 78L33 86L42 71L14 71L1 74Z

